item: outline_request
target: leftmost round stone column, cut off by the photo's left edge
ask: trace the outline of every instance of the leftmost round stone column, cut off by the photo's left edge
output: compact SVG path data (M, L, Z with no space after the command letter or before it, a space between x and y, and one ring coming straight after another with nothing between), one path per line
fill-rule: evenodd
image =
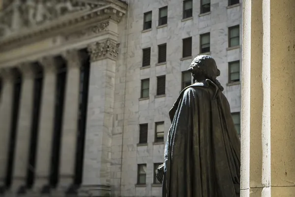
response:
M12 116L14 75L12 69L0 70L2 93L0 97L0 194L4 192L8 162L8 146Z

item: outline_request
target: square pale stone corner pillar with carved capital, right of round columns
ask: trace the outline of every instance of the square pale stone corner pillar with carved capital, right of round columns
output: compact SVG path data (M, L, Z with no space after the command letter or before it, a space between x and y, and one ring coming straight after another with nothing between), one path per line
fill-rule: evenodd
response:
M110 196L111 140L118 44L92 43L81 196Z

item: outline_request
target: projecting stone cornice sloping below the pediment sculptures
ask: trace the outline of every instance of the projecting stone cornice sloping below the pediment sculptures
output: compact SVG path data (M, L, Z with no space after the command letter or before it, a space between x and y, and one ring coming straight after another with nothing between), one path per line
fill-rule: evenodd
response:
M98 1L91 1L93 4ZM97 23L105 20L119 22L121 17L126 13L127 5L118 0L104 0L103 6L92 6L91 10L81 10L72 14L64 15L43 25L33 28L25 28L17 33L11 33L0 39L0 50L5 50L9 46L19 45L21 42L31 42L38 37L49 37L53 34L62 33L69 34L70 30L75 27L81 27L87 23ZM103 26L97 27L100 31ZM95 31L95 29L93 29ZM67 33L68 32L68 33Z

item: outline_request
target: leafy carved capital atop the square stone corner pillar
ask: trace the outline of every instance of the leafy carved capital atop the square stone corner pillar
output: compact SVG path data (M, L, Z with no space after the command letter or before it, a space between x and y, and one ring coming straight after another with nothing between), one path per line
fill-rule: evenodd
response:
M111 39L91 43L88 46L90 61L95 62L104 58L117 60L119 46L120 44Z

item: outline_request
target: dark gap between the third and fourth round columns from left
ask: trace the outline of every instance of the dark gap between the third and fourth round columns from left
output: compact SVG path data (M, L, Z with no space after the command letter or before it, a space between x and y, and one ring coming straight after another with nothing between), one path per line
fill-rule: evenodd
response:
M61 57L57 57L57 83L56 83L56 99L55 99L55 116L54 116L54 134L53 146L51 154L50 166L50 185L56 188L59 181L59 159L60 159L60 141L61 141L61 127L63 118L64 93L66 85L66 63Z

